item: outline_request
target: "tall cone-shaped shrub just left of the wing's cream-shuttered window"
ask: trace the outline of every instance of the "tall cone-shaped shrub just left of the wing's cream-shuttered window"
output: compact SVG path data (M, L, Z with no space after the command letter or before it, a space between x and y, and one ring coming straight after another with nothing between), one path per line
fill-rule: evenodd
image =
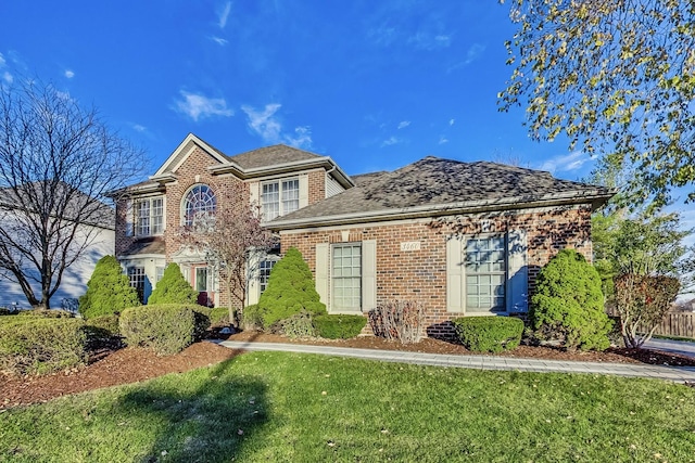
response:
M312 271L296 248L290 247L273 268L268 286L258 300L258 310L264 329L302 310L312 316L326 313Z

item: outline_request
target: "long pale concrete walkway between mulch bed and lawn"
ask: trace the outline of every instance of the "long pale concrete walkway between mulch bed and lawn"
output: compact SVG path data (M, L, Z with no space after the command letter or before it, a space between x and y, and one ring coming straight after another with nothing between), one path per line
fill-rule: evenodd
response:
M353 349L348 347L309 346L302 344L253 343L216 340L220 346L243 350L275 350L281 352L320 353L355 357L382 362L416 363L421 365L466 368L475 370L513 370L541 373L612 374L628 377L650 377L677 383L695 383L695 368L661 366L641 363L570 362L523 359L498 356L448 356L442 353L407 352L401 350Z

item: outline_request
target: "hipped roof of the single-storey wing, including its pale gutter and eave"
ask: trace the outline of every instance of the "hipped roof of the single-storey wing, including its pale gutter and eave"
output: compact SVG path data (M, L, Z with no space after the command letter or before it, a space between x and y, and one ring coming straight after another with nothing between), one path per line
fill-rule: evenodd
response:
M465 211L607 201L605 188L495 163L428 156L392 172L358 176L357 185L268 223L276 230Z

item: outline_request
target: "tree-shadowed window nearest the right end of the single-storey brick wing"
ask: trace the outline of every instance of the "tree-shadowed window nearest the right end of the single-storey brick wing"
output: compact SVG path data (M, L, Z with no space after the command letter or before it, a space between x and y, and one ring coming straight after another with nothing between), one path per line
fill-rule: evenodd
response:
M466 310L504 312L506 283L504 236L470 239L466 242Z

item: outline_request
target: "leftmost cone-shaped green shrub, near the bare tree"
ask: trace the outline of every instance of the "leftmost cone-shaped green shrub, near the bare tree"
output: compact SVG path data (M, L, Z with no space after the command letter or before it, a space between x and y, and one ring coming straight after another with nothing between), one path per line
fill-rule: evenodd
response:
M113 316L139 304L138 292L130 286L121 263L114 256L104 256L99 259L87 282L87 293L79 298L79 313L88 320Z

